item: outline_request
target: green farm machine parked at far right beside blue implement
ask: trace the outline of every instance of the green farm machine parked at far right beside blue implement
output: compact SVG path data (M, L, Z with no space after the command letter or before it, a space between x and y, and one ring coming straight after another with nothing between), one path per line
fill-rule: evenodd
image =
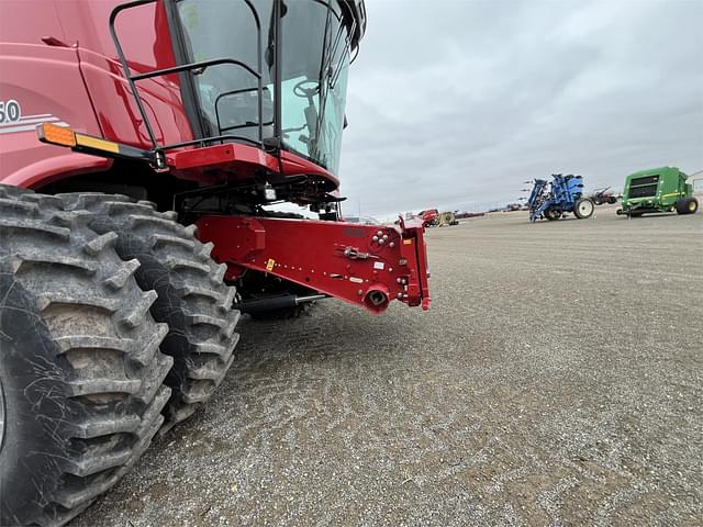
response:
M694 214L699 202L688 176L676 167L643 170L627 176L623 208L617 214L638 217L651 212Z

